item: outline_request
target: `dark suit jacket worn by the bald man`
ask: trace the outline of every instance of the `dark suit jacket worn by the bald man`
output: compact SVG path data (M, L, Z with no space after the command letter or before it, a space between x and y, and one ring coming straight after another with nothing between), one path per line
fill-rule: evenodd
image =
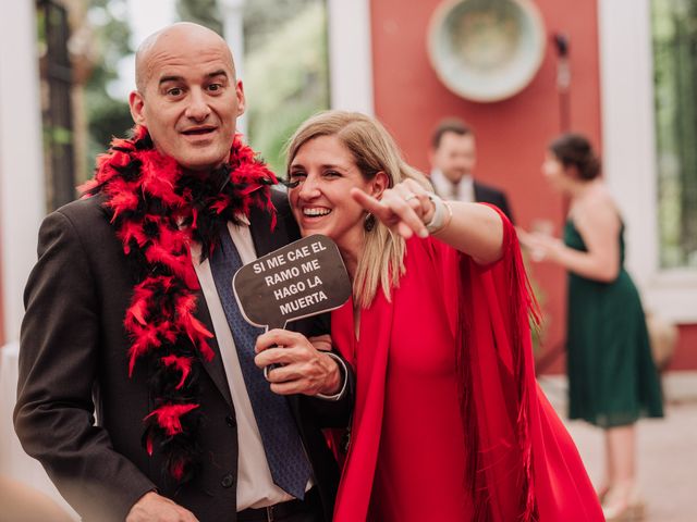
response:
M258 256L298 237L285 195L272 191L278 225L250 214ZM201 521L234 521L237 480L235 412L216 339L216 357L199 375L204 462L197 478L180 488L162 460L140 444L150 411L146 372L127 376L129 341L123 327L135 281L101 198L75 201L46 217L38 262L25 290L15 430L61 494L86 520L123 521L146 492L156 489ZM213 332L203 294L197 316ZM308 333L309 322L296 330ZM352 397L339 402L290 397L314 467L326 520L331 520L339 480L337 463L319 430L347 424ZM95 407L96 419L95 423Z

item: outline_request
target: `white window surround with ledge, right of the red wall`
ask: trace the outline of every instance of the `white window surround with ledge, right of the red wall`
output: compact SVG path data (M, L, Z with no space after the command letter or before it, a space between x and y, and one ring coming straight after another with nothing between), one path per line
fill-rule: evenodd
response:
M602 162L627 224L627 266L650 310L697 322L697 274L659 266L650 0L599 0Z

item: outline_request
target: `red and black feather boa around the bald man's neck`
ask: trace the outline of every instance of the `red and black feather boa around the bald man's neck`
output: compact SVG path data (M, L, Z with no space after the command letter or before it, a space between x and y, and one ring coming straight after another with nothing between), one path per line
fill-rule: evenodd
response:
M132 139L112 141L97 159L95 177L81 187L83 197L103 195L134 271L137 283L124 318L127 372L146 364L155 402L144 419L143 443L149 455L161 451L178 483L191 480L199 462L199 358L213 358L212 334L195 316L199 284L189 245L200 244L209 256L227 223L239 223L255 206L272 213L274 226L269 186L276 183L240 136L227 164L192 173L155 150L147 129L136 126Z

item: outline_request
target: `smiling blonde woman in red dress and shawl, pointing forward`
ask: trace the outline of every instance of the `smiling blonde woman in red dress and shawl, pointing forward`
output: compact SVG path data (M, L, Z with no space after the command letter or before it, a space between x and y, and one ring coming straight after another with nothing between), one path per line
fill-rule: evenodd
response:
M353 298L332 313L333 343L356 371L334 520L602 520L535 383L510 222L433 196L358 113L305 122L288 170L302 233L331 237L353 281ZM257 364L284 335L259 337ZM269 380L282 381L276 372Z

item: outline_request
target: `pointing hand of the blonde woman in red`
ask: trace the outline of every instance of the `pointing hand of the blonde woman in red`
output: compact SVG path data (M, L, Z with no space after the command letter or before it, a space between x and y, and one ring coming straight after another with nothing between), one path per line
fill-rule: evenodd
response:
M380 199L359 188L352 188L351 196L376 219L405 239L414 234L419 237L428 236L425 223L429 223L433 216L435 206L429 192L415 181L406 179L388 188Z

